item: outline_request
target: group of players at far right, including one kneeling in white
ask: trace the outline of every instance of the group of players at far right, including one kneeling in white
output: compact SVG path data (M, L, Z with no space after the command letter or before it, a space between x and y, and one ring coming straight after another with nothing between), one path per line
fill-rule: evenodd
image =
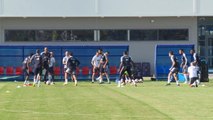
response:
M169 51L169 57L171 59L172 65L169 69L170 72L168 74L168 82L167 86L171 85L172 79L176 81L177 86L180 86L178 82L177 74L179 72L179 66L182 68L182 73L185 78L185 84L189 84L191 87L197 87L200 83L199 81L199 71L200 71L200 58L194 49L190 50L190 54L192 55L190 66L188 67L188 60L186 54L183 49L179 49L179 54L181 55L181 64L179 65L178 59L175 57L173 51ZM188 80L189 78L189 80Z

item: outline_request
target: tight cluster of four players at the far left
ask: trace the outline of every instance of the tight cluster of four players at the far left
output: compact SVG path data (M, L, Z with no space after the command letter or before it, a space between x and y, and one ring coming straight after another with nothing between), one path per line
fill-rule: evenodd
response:
M44 72L44 82L47 84L54 84L53 67L55 65L55 58L53 57L53 52L49 52L47 47L45 47L44 51L41 53L40 50L37 49L35 54L31 54L23 61L23 72L26 76L24 81L25 86L30 85L30 64L32 65L32 72L34 74L33 86L36 84L38 87L40 86L42 71Z

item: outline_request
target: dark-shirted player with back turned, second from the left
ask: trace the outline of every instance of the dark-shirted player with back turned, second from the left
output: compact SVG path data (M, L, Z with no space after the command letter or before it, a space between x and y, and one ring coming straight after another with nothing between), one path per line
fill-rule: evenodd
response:
M41 73L42 73L42 58L40 55L40 51L37 49L36 54L34 54L30 62L33 63L33 73L34 73L34 82L33 86L35 84L38 84L38 87L40 87L40 80L41 80Z

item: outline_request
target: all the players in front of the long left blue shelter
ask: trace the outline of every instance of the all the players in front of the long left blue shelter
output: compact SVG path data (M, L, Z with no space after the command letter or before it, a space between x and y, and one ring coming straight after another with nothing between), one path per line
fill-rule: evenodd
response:
M98 49L91 60L92 64L92 83L97 80L99 84L103 83L103 77L105 76L107 79L107 83L110 84L110 78L108 75L109 69L109 52L103 52L102 49ZM53 57L53 52L49 52L48 48L45 47L44 51L40 53L39 49L36 50L35 54L31 54L25 58L23 61L23 71L25 75L24 85L29 85L29 75L30 75L30 65L32 66L32 72L34 74L33 78L33 86L40 86L41 75L44 73L43 79L45 84L54 84L54 66L55 66L55 58ZM77 76L76 69L80 65L80 62L77 58L73 56L73 53L70 51L65 52L65 56L63 57L62 63L64 65L64 84L68 84L69 75L71 76L71 80L77 86ZM130 82L132 82L132 67L133 67L132 58L128 55L128 52L125 51L123 56L121 57L119 73L120 73L120 83L121 85L125 85L127 83L127 78ZM98 77L95 79L95 76ZM48 80L47 80L48 77ZM136 86L136 83L134 82Z

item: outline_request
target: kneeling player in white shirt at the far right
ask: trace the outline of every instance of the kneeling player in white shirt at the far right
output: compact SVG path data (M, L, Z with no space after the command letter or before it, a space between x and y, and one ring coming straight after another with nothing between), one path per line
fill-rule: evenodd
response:
M196 66L194 62L191 62L190 67L188 68L191 87L198 87L198 70L198 66Z

